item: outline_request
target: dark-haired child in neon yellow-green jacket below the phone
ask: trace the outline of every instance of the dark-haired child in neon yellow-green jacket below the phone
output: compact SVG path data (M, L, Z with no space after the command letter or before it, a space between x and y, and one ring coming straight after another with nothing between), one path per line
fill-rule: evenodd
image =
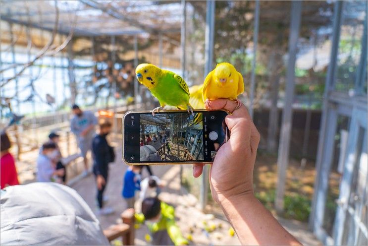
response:
M157 197L142 201L142 213L134 215L137 223L145 223L150 231L151 245L188 245L175 223L175 210Z

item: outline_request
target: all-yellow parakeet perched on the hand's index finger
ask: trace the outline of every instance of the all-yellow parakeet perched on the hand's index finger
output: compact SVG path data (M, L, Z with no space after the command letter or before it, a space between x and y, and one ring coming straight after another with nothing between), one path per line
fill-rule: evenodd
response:
M227 62L222 62L210 71L203 83L203 101L218 98L236 100L244 92L243 76L235 67Z

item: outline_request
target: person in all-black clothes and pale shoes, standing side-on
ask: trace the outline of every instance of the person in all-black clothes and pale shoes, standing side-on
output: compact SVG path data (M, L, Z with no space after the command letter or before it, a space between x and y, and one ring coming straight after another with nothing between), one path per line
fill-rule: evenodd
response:
M108 144L106 136L111 131L111 123L103 122L99 125L100 132L95 136L92 142L93 173L96 177L98 202L97 214L107 215L113 213L111 207L104 206L104 191L108 177L108 163L114 162L115 154L113 148Z

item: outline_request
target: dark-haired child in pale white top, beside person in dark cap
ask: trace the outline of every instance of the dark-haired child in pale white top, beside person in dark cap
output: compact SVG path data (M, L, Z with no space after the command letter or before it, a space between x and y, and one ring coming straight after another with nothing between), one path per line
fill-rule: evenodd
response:
M37 181L54 182L54 176L63 176L64 169L56 170L53 165L53 159L58 155L56 145L53 142L47 142L42 145L42 151L37 158Z

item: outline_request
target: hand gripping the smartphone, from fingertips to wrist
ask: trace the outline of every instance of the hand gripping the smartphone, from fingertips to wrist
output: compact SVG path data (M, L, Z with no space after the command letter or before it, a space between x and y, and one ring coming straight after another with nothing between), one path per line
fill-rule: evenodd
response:
M241 104L228 99L210 101L210 110L224 109L233 112L225 118L230 131L230 139L217 151L210 168L210 187L212 197L218 203L229 197L253 194L253 168L256 160L260 133ZM234 109L236 109L234 111ZM204 164L194 164L193 176L201 176Z

